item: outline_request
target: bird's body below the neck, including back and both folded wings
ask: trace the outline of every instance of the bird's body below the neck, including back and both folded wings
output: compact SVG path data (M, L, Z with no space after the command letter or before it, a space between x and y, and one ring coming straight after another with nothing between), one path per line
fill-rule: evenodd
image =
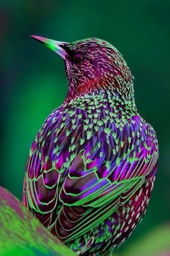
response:
M78 254L119 245L148 205L156 134L117 95L89 93L53 111L37 133L24 205Z

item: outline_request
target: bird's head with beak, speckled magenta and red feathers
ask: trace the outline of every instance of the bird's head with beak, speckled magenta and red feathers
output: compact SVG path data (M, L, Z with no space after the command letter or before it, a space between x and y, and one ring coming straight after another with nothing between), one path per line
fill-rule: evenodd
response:
M66 43L32 35L63 57L68 79L66 101L86 93L109 91L133 101L133 77L117 48L104 40L87 38Z

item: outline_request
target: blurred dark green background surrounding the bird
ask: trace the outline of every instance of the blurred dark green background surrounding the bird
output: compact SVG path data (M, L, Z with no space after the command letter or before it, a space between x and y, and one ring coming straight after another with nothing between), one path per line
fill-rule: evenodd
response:
M146 216L115 250L118 255L128 255L140 240L145 247L150 234L161 234L170 221L169 9L168 0L0 1L0 185L19 199L32 140L63 103L68 86L63 60L30 35L69 42L103 38L120 50L133 72L138 111L156 129L160 160Z

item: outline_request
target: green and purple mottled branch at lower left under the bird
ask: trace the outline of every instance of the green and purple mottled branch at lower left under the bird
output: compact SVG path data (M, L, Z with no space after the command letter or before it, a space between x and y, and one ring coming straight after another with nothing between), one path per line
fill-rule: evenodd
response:
M0 255L76 256L3 187L0 187L0 230Z

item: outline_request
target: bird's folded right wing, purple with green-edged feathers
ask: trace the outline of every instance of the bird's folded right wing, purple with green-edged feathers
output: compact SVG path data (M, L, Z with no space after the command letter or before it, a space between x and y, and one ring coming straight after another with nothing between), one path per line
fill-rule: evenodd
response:
M99 129L76 156L59 195L63 208L55 226L61 239L67 234L60 233L61 229L70 229L69 242L102 223L155 175L156 135L150 125L141 122L138 131L132 124L117 132Z

